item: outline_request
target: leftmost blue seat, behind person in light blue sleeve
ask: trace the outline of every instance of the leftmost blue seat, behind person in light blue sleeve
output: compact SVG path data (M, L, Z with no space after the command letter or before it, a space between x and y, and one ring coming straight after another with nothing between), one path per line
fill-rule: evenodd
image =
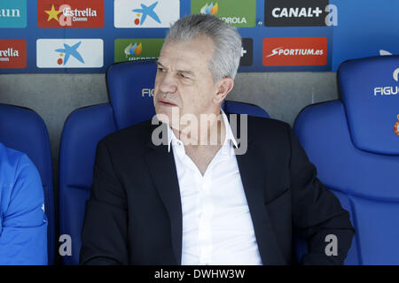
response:
M0 142L8 148L27 154L40 173L44 210L49 221L47 228L49 264L54 264L55 217L51 148L43 119L30 109L0 103Z

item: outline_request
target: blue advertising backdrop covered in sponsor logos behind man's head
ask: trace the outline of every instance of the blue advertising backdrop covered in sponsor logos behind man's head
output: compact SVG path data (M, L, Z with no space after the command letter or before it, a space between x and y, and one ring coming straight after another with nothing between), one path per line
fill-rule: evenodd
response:
M397 11L397 0L0 0L0 73L105 73L157 57L168 27L192 13L238 28L239 72L336 71L399 54Z

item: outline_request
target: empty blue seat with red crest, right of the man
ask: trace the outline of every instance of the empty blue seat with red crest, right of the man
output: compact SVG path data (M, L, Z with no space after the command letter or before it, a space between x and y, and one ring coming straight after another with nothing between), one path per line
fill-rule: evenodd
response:
M351 214L345 264L399 264L398 73L399 56L344 62L340 100L306 107L294 124L318 178Z

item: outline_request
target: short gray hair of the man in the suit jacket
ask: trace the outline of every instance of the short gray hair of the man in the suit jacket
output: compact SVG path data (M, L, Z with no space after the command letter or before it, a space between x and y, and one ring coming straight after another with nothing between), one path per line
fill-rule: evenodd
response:
M234 79L241 58L241 36L235 27L213 15L191 15L177 20L170 27L165 42L188 42L207 35L214 42L209 71L214 81Z

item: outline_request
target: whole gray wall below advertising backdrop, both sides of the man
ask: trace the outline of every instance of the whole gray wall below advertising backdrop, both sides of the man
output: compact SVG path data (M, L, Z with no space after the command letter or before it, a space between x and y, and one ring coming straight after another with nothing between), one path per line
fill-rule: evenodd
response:
M271 118L293 125L311 103L337 99L335 73L239 73L228 99L254 103ZM2 74L0 103L24 106L42 116L50 134L57 180L59 139L76 108L106 103L104 74Z

